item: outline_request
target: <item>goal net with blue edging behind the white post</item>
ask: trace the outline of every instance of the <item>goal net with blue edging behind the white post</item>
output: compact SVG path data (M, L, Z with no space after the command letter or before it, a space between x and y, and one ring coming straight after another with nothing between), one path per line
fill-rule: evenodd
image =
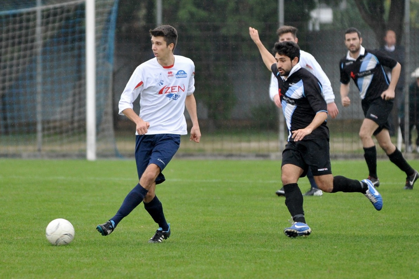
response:
M118 0L96 0L96 151L115 156ZM85 157L85 0L0 5L0 156Z

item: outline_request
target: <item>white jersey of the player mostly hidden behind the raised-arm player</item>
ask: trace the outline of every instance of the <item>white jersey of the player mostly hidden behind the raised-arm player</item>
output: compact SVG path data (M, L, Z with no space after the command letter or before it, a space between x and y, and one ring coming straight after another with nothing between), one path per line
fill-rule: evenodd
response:
M314 74L317 79L320 81L321 86L323 87L322 95L326 103L330 104L335 101L335 95L333 94L333 89L330 83L329 78L326 76L325 72L321 68L320 64L316 61L313 55L300 50L300 61L301 67L307 69L310 73ZM271 100L274 100L274 96L278 94L278 79L271 75L271 84L269 85L269 96Z

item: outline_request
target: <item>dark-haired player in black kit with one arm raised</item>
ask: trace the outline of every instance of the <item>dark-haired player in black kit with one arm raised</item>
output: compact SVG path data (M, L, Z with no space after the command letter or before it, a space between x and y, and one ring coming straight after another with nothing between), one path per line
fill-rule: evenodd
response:
M249 27L249 33L258 46L265 66L278 79L278 94L289 131L281 163L285 205L292 218L291 227L284 230L285 235L297 237L311 233L305 222L303 194L297 184L309 168L319 189L324 192L360 192L376 210L381 210L383 199L370 180L360 182L332 175L326 101L321 95L319 80L298 63L298 45L291 41L276 43L274 57L260 41L256 29Z

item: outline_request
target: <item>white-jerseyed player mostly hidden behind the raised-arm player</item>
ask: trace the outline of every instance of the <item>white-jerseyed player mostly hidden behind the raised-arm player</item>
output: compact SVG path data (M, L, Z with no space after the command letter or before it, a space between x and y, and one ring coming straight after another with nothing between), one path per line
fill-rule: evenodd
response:
M298 29L294 26L281 26L277 30L277 35L279 37L279 41L292 41L295 44L298 43L297 38L297 31ZM333 94L333 89L330 83L330 80L326 76L325 72L321 68L320 64L316 61L313 55L309 54L308 52L300 50L300 65L301 67L307 69L310 73L314 74L315 77L321 82L323 87L323 98L326 100L327 103L327 110L328 114L331 118L336 118L339 113L338 108L335 104L335 95ZM271 100L274 101L275 105L278 108L281 108L281 101L279 100L278 94L278 80L274 76L271 75L271 84L269 85L269 96ZM321 196L323 192L321 189L318 189L316 182L314 181L313 174L311 171L308 171L307 178L310 181L310 189L304 194L305 196ZM278 196L285 196L284 187L279 189L276 194Z

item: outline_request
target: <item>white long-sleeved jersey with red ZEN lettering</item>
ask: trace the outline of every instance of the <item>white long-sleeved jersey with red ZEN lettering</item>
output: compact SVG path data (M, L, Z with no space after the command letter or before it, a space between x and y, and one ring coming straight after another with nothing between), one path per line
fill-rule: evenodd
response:
M140 96L140 118L150 122L147 135L185 135L184 116L186 95L195 91L195 65L184 56L175 55L172 66L161 66L156 58L135 69L119 100L119 114L133 108ZM138 133L136 133L138 134Z

